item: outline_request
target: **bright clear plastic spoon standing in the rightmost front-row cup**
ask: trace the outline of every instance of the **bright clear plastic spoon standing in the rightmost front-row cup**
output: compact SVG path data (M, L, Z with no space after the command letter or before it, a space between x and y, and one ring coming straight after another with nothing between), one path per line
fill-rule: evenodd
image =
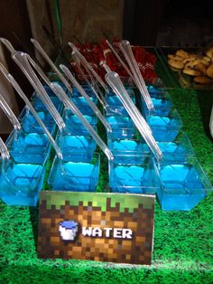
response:
M109 72L106 74L106 81L110 85L110 87L116 92L116 95L119 97L119 99L122 101L122 103L125 106L126 111L128 112L129 116L133 119L134 125L136 128L140 131L141 135L144 137L144 140L146 141L147 145L151 148L153 155L159 160L162 158L162 151L158 147L155 139L153 138L153 135L150 131L147 131L147 123L144 120L143 116L141 115L140 118L138 118L137 115L135 115L135 112L137 112L136 107L134 106L134 103L127 99L128 93L125 90L125 87L120 80L118 74L116 72ZM134 111L133 111L134 109Z

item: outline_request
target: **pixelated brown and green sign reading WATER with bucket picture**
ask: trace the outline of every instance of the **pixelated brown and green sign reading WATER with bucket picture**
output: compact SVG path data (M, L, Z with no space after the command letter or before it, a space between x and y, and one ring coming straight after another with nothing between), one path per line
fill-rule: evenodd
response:
M44 191L38 256L151 264L154 196Z

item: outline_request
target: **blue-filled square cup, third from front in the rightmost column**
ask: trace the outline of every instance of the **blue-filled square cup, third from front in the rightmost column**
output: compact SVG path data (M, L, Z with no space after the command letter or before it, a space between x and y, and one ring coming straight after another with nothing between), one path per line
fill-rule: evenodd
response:
M147 115L146 120L153 131L153 137L159 142L173 141L182 128L177 109L173 109L167 117Z

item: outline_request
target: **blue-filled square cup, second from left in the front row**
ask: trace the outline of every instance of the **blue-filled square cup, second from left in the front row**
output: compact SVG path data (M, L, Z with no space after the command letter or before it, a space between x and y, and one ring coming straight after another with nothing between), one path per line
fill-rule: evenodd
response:
M91 162L66 162L55 157L48 182L55 191L95 192L99 166L99 154Z

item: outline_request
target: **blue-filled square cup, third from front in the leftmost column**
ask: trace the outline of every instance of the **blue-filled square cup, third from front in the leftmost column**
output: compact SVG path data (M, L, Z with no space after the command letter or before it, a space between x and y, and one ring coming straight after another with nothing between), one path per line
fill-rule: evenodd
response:
M52 132L56 128L56 124L51 117L51 114L48 111L38 111L38 116L42 119L44 125L46 128ZM19 120L22 124L23 130L27 133L42 133L43 129L39 125L39 123L35 120L33 117L31 111L27 109L26 107L23 108L23 111L21 112L19 116Z

